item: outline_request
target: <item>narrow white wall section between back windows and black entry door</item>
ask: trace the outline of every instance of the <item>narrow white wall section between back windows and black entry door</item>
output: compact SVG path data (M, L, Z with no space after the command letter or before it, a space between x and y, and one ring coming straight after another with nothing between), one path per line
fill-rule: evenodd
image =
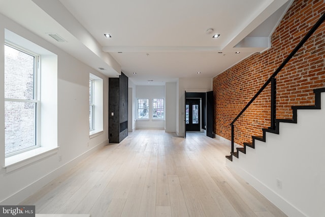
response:
M166 132L176 132L176 99L177 99L177 83L176 82L166 82L165 85L165 131Z

